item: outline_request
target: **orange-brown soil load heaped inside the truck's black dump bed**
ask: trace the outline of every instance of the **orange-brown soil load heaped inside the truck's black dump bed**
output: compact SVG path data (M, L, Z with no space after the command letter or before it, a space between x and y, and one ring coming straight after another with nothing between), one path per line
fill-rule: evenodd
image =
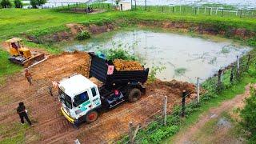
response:
M114 60L116 70L144 70L143 66L137 61L125 61L122 59Z

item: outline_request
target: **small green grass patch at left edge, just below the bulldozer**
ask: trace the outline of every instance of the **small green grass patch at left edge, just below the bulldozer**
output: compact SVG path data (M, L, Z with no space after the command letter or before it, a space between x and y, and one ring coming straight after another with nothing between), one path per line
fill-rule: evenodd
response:
M0 85L5 82L7 74L14 74L22 70L22 66L15 65L8 60L9 53L0 49Z

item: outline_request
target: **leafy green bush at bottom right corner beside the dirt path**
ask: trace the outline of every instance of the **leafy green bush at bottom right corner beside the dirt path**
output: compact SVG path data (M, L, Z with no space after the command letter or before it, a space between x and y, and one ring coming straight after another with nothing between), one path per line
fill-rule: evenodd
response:
M251 89L250 98L246 98L246 106L241 110L242 127L250 132L250 142L256 142L256 90Z

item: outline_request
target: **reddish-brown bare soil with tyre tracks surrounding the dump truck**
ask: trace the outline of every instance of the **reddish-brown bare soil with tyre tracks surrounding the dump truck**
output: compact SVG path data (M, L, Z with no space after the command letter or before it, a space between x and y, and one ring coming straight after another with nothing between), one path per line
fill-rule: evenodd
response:
M23 73L7 78L0 87L0 123L13 126L19 122L16 107L24 102L34 122L33 129L26 133L27 143L74 143L79 138L82 143L105 143L119 138L128 132L128 123L146 125L150 116L162 110L164 96L168 97L168 110L174 103L181 102L182 90L194 90L194 85L187 82L154 82L146 84L146 94L138 102L125 102L100 115L96 122L83 124L78 130L62 116L57 90L50 96L48 86L52 81L59 81L74 73L88 76L90 57L86 53L75 52L50 56L45 62L30 68L33 86L29 86ZM194 96L190 97L191 99ZM12 135L15 135L15 131ZM7 137L7 136L6 136ZM37 137L37 138L34 138ZM5 136L0 137L1 140Z

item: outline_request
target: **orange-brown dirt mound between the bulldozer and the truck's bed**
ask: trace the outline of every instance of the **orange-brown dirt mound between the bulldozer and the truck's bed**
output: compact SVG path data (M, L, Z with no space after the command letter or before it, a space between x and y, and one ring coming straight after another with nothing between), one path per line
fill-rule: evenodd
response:
M84 52L62 53L53 55L30 69L35 79L58 81L72 74L89 76L90 55Z

